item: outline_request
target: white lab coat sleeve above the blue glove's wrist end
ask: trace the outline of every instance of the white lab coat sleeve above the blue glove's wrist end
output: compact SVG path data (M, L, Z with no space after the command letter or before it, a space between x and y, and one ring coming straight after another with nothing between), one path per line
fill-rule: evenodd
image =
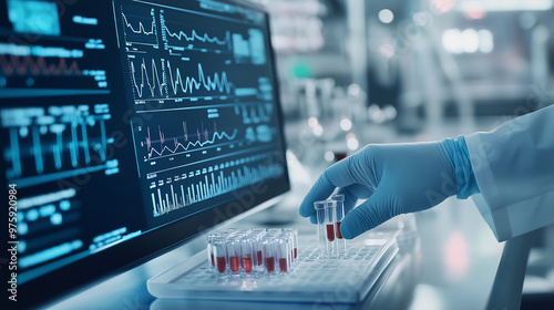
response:
M481 192L472 198L499 241L554 223L554 106L465 143Z

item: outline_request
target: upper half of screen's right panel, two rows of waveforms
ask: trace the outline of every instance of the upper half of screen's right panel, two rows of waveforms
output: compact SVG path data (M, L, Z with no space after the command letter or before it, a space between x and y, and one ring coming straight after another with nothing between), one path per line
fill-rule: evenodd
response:
M222 23L220 18L131 3L120 7L120 28L135 104L264 99L267 94L267 84L259 80L267 76L244 71L267 64L265 39L255 22L212 27L206 21Z

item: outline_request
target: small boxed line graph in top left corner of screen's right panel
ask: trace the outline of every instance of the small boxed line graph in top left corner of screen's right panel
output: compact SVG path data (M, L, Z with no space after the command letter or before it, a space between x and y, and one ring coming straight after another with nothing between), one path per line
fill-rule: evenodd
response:
M147 44L157 46L157 27L155 10L137 7L122 8L121 20L127 44Z

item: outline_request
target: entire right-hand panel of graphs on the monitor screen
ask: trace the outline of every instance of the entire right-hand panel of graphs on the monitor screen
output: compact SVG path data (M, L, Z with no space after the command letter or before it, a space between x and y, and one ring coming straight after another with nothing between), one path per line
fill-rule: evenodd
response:
M263 19L211 6L194 12L130 0L116 12L137 168L154 218L209 207L284 174Z

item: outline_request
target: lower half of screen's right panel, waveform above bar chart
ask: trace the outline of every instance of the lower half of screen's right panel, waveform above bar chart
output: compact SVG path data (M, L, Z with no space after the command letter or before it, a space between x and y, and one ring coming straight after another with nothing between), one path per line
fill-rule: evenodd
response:
M283 174L269 103L148 111L135 126L154 217Z

